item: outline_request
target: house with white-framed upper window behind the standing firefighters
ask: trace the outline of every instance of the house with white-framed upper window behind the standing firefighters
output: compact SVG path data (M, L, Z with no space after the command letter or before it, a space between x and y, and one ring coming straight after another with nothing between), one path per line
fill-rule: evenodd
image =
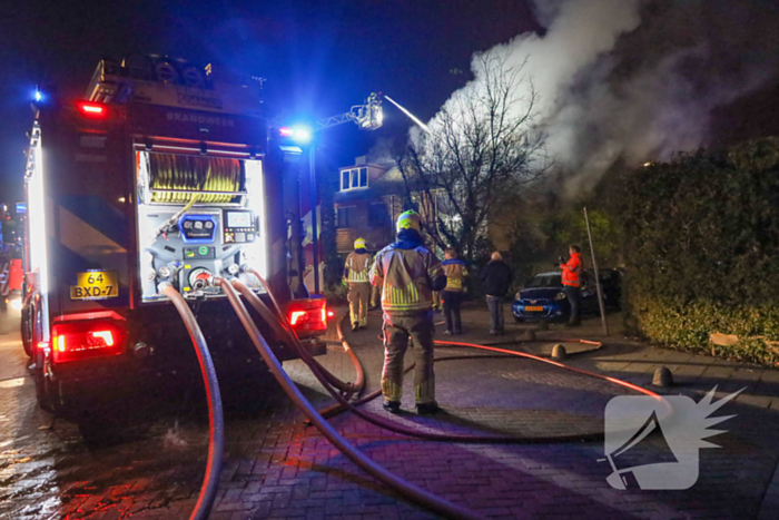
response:
M361 237L371 251L392 243L395 219L404 210L403 177L397 167L369 164L363 156L339 168L338 178L334 196L338 253L351 252Z

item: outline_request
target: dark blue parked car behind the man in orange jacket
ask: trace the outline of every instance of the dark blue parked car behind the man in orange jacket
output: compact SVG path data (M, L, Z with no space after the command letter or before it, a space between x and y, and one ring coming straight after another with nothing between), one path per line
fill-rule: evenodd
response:
M607 308L620 308L622 273L618 269L600 269L603 304ZM584 271L581 292L581 313L599 314L595 273ZM514 296L511 305L514 321L563 321L571 314L560 271L536 274Z

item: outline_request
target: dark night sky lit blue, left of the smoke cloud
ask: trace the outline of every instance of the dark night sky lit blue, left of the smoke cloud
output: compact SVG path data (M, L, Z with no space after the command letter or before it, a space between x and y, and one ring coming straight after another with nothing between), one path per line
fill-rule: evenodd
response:
M11 7L12 6L12 7ZM474 51L539 30L522 0L3 2L0 13L0 202L22 197L36 85L80 96L103 56L166 53L267 78L270 112L319 119L383 91L423 119L470 79ZM458 71L464 71L460 72ZM344 125L324 136L333 163L403 136Z

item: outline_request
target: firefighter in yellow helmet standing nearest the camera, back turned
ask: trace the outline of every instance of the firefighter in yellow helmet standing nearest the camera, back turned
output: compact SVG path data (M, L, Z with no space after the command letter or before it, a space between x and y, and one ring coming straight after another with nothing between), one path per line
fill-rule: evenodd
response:
M408 339L414 342L414 396L418 413L434 413L433 291L446 286L441 262L424 245L420 215L405 212L397 218L397 242L376 254L371 283L382 291L384 311L384 409L397 413L403 392L403 356Z

